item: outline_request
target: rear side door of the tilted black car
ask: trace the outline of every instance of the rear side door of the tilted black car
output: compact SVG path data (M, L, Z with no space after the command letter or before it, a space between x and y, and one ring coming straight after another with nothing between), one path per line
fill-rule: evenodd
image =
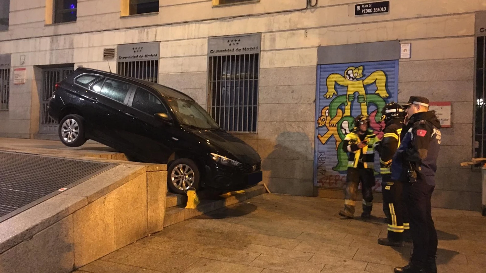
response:
M129 149L124 142L124 113L133 85L121 80L103 78L94 82L87 92L84 115L89 130L98 141L121 152Z

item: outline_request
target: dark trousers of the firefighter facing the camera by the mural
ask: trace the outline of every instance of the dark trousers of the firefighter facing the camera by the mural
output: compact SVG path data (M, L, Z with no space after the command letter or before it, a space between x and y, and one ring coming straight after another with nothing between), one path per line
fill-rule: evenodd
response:
M358 168L347 168L346 190L344 207L352 214L356 207L358 198L358 186L361 182L361 193L363 194L363 212L371 213L373 208L373 186L375 185L375 175L373 169L366 169L358 165Z

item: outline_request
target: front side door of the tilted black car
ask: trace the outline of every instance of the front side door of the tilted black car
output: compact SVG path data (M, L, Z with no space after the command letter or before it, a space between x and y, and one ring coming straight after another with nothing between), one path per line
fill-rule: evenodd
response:
M166 162L174 148L173 126L154 117L156 113L166 113L167 107L149 91L136 87L127 111L131 115L127 136L128 142L137 147L137 157L143 161Z

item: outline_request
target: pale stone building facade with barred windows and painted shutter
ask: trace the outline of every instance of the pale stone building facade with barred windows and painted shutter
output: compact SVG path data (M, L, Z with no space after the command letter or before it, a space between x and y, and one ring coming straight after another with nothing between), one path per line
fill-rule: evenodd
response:
M482 0L0 0L0 137L56 138L46 105L79 66L192 96L262 157L275 193L340 197L365 113L427 96L444 125L434 206L481 208ZM377 163L378 166L378 163ZM377 176L377 196L381 187Z

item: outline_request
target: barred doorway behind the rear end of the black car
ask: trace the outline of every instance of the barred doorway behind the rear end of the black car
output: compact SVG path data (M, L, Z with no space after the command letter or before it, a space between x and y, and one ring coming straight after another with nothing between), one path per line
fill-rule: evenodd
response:
M56 83L64 80L74 67L66 68L52 68L42 70L42 89L40 96L40 118L39 118L39 133L40 134L57 134L57 122L54 121L47 112L49 99L55 90Z

